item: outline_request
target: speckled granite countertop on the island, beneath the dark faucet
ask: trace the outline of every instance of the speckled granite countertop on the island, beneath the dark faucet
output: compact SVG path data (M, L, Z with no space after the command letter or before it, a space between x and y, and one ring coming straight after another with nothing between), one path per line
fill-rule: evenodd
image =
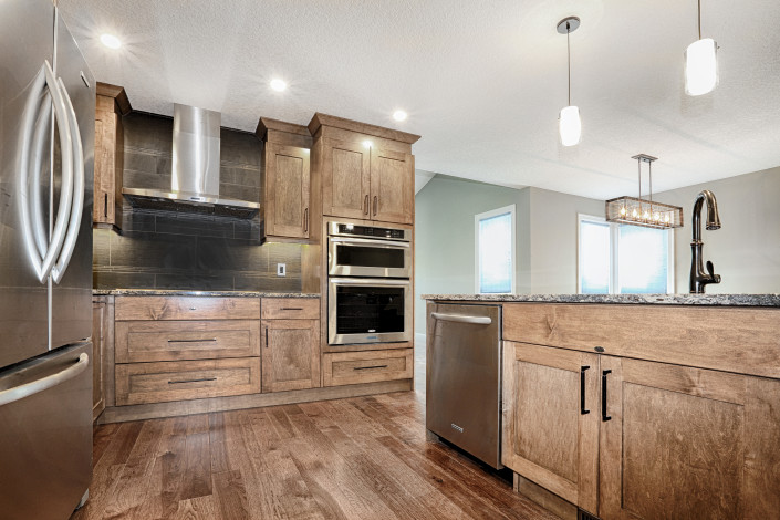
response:
M780 308L780 294L423 294L422 300Z

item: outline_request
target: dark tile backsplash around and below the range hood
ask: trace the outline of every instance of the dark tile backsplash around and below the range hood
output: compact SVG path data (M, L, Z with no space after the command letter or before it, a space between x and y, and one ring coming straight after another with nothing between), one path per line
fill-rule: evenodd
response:
M146 113L123 117L123 185L170 187L173 119ZM222 128L220 193L260 200L262 142ZM93 231L96 289L301 290L297 243L263 243L262 222L123 207L122 233ZM287 277L277 277L277 263Z

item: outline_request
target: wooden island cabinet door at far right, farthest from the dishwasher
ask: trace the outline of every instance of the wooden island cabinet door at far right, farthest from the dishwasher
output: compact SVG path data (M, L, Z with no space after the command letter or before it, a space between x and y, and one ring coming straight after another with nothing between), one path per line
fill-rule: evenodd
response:
M779 518L780 381L613 356L601 371L601 518Z

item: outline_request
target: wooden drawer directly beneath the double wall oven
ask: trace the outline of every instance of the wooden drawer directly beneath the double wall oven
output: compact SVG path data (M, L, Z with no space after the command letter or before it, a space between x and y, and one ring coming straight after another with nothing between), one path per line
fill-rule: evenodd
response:
M410 379L414 353L413 349L329 353L322 367L325 386Z

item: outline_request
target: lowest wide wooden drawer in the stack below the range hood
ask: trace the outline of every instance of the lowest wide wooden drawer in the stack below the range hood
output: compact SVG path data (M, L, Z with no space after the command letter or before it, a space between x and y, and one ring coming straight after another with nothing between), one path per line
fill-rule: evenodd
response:
M258 392L259 357L116 365L118 406Z

